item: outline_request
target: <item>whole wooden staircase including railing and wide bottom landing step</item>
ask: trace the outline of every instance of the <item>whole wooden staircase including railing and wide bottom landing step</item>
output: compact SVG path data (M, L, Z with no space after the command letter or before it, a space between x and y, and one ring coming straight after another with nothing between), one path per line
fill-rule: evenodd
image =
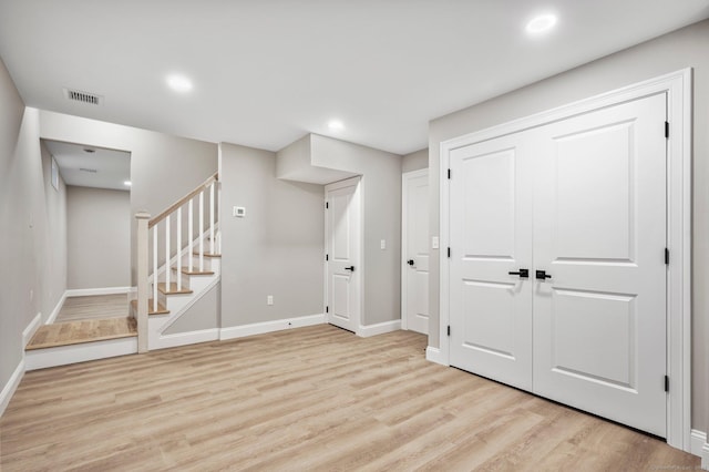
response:
M127 318L40 327L25 349L27 370L218 339L216 330L165 331L220 280L219 194L214 174L156 217L138 213L137 293Z

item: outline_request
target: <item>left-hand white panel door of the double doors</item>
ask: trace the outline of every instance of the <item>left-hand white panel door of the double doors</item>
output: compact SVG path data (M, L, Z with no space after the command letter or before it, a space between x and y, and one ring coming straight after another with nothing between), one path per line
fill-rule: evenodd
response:
M451 153L449 269L451 365L530 390L532 283L518 274L532 269L527 154L521 135Z

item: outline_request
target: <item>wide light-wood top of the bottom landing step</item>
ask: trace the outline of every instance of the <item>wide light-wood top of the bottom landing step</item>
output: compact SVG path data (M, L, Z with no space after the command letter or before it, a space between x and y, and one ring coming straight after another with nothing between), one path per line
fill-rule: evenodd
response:
M133 317L65 321L41 326L24 350L82 345L136 336L137 326Z

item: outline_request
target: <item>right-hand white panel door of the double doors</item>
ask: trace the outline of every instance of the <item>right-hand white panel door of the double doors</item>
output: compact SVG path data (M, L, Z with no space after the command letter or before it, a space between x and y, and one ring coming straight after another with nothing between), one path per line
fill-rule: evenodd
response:
M661 94L533 132L534 392L661 437L665 120Z

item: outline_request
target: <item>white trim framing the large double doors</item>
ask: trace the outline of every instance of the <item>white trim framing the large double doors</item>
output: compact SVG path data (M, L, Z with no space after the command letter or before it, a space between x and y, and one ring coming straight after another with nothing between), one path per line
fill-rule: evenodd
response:
M667 277L667 443L689 451L691 445L691 69L682 69L616 91L580 100L441 143L440 158L440 356L439 363L450 365L448 326L450 205L448 168L450 153L493 137L517 133L554 121L587 113L618 103L658 93L667 93L667 119L670 124L668 155L667 244L670 265Z

